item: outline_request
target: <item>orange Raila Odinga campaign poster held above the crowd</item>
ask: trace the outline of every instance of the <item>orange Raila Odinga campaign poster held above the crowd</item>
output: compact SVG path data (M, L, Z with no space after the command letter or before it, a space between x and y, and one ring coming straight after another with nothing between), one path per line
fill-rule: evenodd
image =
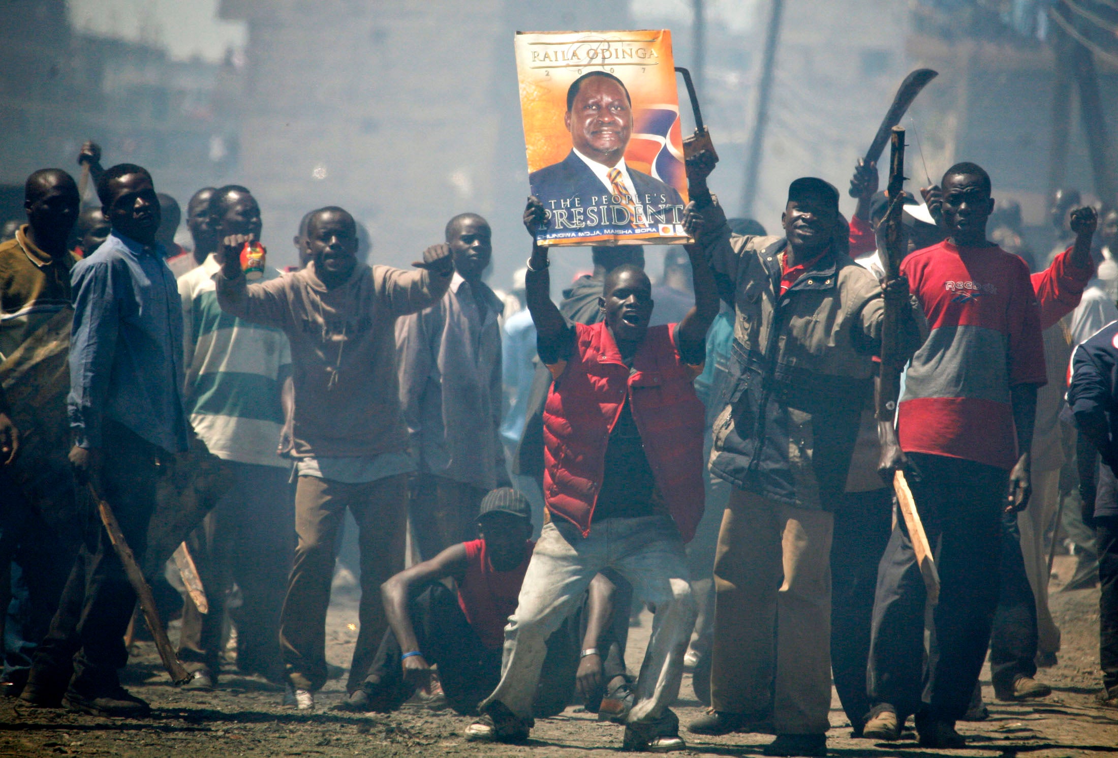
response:
M541 245L673 245L688 181L672 32L517 32Z

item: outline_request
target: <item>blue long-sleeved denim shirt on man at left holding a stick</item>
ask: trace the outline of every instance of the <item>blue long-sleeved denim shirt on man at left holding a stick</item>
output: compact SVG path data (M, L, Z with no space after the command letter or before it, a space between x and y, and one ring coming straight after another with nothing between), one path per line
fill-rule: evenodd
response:
M70 428L104 447L111 418L169 452L187 449L182 407L182 305L162 245L113 233L70 272Z

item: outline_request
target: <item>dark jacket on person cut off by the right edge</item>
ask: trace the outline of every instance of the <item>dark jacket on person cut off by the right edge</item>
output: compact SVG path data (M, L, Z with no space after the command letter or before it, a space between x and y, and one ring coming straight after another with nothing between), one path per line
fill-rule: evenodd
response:
M1102 457L1095 515L1118 517L1118 321L1072 353L1068 405L1079 433Z

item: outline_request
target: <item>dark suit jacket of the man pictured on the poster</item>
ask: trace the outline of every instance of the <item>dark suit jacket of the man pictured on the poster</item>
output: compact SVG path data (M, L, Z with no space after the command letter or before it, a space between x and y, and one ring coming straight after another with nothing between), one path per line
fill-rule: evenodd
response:
M682 224L683 198L674 187L642 173L632 165L626 165L626 169L636 191L634 201L644 206L645 216L652 224ZM578 231L617 226L612 220L601 219L599 214L601 198L609 195L609 190L574 150L558 163L533 171L528 180L532 187L532 195L540 199L544 208L552 211L548 220L548 231L562 229ZM567 212L557 214L556 210ZM603 222L604 220L608 222Z

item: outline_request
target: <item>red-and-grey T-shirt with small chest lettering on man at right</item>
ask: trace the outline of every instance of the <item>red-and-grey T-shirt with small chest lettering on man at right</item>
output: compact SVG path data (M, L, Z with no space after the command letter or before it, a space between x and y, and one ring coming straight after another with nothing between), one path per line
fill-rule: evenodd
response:
M901 273L930 329L906 373L901 449L1013 468L1010 390L1046 382L1029 266L999 247L942 241L904 258Z

